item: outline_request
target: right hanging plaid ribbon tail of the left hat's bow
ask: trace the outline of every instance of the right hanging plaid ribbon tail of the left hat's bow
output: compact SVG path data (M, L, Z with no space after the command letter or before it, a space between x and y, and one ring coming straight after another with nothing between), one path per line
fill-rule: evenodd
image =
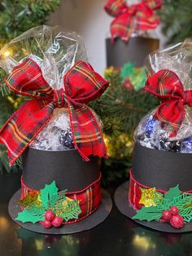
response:
M73 142L81 157L85 161L89 161L90 155L107 158L107 148L94 111L85 104L70 102L68 110Z

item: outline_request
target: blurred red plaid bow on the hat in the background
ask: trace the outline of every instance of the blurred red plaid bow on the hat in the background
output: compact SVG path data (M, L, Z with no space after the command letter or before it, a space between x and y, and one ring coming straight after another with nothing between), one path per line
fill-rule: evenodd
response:
M154 10L160 7L161 0L142 0L131 7L127 6L125 0L109 0L104 8L115 17L111 22L112 41L114 38L129 41L132 33L155 29L160 20Z

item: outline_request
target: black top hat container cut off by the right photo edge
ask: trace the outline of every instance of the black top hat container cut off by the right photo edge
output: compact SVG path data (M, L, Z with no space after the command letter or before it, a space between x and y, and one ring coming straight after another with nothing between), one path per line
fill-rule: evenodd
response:
M133 163L131 180L143 188L155 188L159 192L167 192L170 188L179 185L181 192L192 191L192 156L190 153L168 152L143 147L135 143L133 148ZM123 183L116 189L115 202L122 214L129 218L137 213L133 208L130 193L137 198L137 188L131 183ZM172 227L168 223L158 221L134 219L145 227L161 232L191 232L192 223L185 223L181 229Z

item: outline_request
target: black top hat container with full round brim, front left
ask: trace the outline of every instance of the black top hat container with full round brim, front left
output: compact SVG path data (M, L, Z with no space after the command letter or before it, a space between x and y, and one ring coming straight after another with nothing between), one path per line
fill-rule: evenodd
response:
M96 182L98 188L95 192L92 191L89 194L93 200L93 211L78 219L75 223L66 223L59 228L51 227L46 229L40 223L21 223L18 220L15 220L15 222L33 232L60 235L89 230L102 223L111 212L111 197L103 190L100 193L100 157L89 156L89 159L89 161L84 161L76 149L44 151L28 148L23 153L22 186L24 187L17 191L9 202L11 218L15 220L17 214L21 211L18 201L23 198L23 192L25 193L25 190L28 191L28 188L39 191L46 184L50 184L55 180L59 191L67 189L67 193L71 192L71 194L86 191L87 195L88 190L90 192L90 187ZM102 195L101 201L95 202L96 205L94 205L94 200L96 200L94 196L99 197L99 195ZM89 196L87 197L88 205L90 205Z

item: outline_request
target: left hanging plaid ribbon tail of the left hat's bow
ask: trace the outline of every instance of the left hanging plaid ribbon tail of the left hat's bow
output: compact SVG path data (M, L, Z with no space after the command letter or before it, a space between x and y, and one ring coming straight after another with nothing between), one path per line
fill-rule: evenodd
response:
M0 143L7 146L10 166L50 121L53 106L37 99L29 100L12 114L0 130Z

